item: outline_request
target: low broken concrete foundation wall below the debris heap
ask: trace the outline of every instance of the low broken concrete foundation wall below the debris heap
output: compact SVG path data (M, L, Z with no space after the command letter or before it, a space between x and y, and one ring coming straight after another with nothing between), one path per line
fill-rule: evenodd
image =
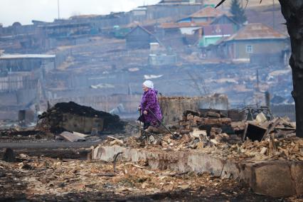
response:
M124 161L148 161L151 169L172 171L208 172L221 178L240 179L255 193L273 196L303 195L302 161L256 161L236 162L201 151L148 151L124 147L96 147L92 159L112 161L113 156L123 152Z

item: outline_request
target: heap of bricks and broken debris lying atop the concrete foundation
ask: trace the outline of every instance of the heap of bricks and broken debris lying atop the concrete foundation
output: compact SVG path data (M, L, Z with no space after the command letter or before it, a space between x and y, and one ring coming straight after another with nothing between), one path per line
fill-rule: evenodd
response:
M220 113L186 110L183 119L169 127L171 134L147 134L140 138L107 138L100 146L188 151L196 149L224 159L303 160L303 140L295 137L294 124L283 118L232 122ZM259 130L258 130L259 129ZM260 129L262 134L260 135Z

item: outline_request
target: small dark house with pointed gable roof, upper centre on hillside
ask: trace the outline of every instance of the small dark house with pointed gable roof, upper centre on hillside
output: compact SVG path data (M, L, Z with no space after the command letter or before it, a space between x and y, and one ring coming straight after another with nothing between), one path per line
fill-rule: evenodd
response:
M142 26L137 26L127 33L126 44L127 48L149 48L150 43L160 43L159 40Z

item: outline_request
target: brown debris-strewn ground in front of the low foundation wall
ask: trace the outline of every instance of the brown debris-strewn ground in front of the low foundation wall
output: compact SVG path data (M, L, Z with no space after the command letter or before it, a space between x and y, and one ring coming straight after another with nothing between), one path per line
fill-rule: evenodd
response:
M193 199L193 196L198 201L201 198L226 201L243 197L256 201L267 198L253 194L231 179L219 179L206 173L159 171L150 169L144 161L134 164L118 159L114 172L112 163L25 154L18 158L21 161L16 163L0 161L1 201L79 201L79 198L85 198L85 201L171 198L174 201L176 198Z

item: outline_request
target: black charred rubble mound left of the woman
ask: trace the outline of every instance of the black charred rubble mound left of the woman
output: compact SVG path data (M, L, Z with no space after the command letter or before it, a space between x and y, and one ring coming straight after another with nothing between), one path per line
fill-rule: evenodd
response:
M90 133L120 132L125 123L117 115L94 110L92 107L78 105L75 102L60 102L38 117L37 127L53 133L65 131Z

